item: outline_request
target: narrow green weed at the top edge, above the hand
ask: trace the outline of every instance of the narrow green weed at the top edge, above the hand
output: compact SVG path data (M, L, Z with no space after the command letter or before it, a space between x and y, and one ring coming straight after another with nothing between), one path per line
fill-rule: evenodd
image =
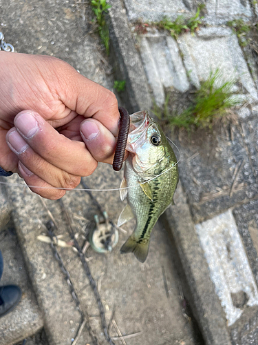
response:
M107 55L109 54L109 28L105 21L105 13L111 8L106 0L92 0L92 10L96 17L96 23L98 24L98 33L100 39L103 41Z

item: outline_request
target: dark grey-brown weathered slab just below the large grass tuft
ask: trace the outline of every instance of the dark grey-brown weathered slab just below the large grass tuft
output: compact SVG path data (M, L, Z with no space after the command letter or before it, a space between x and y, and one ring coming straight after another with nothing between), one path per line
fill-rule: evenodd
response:
M243 138L241 125L230 124L176 141L180 178L196 223L257 197L258 181Z

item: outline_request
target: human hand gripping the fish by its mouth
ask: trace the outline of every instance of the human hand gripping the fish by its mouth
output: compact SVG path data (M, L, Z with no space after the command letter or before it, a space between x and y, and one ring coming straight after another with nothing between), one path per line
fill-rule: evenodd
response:
M59 199L112 162L118 135L113 92L53 57L0 52L0 166L34 193ZM47 188L48 187L48 188Z

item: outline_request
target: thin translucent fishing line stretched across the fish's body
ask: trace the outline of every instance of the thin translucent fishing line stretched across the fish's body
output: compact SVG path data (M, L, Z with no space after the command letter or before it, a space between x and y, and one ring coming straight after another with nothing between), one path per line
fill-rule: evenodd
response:
M166 139L168 139L171 144L173 144L175 146L175 148L177 148L178 153L179 153L179 159L178 161L173 164L173 166L171 166L170 168L162 171L160 174L156 175L155 177L152 177L151 179L147 179L147 181L142 182L141 184L147 184L149 181L153 181L153 179L157 179L158 177L160 177L161 175L165 174L166 172L169 172L169 170L175 168L175 166L178 165L181 157L181 152L180 149L178 148L178 146L175 145L175 143L169 139L168 137L166 137ZM163 158L165 159L165 158ZM7 186L19 186L19 187L27 187L27 188L40 188L40 189L60 189L60 190L85 190L86 192L112 192L112 191L116 191L116 190L125 190L125 189L129 189L129 188L133 188L134 186L130 186L130 187L123 187L123 188L107 188L107 189L88 189L88 188L62 188L62 187L43 187L43 186L29 186L27 184L10 184L8 182L3 182L0 181L0 184L6 184ZM138 185L136 185L138 186Z

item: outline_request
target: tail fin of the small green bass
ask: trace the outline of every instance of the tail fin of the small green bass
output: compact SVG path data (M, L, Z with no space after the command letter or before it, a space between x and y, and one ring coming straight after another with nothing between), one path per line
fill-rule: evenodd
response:
M125 244L122 245L120 253L133 253L140 262L144 262L149 252L149 239L138 242L136 237L128 237Z

